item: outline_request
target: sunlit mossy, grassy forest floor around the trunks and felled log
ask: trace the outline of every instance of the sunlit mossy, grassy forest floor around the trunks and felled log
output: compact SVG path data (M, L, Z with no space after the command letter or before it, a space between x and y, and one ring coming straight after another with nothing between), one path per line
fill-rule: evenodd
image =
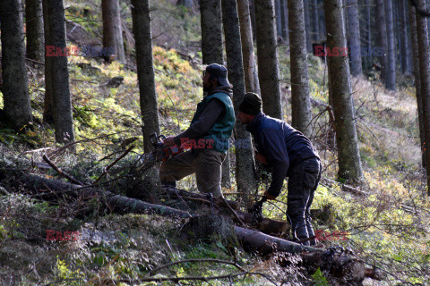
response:
M167 136L186 129L202 98L200 15L176 7L173 2L152 1L155 81L161 130ZM80 31L75 38L69 37L68 45L77 45L84 38L101 40L99 1L74 0L66 4L68 29L77 25L74 31ZM127 28L127 63L107 64L99 59L69 57L73 122L79 143L74 152L66 149L51 159L85 184L96 181L131 142L136 147L112 172L132 164L143 152L130 11L125 4L122 9ZM290 122L288 46L280 46L279 53L282 102L285 120ZM310 56L309 63L312 97L327 103L325 66L314 56ZM0 129L0 163L12 163L26 172L56 178L57 173L42 159L46 152L60 147L55 144L52 127L41 123L43 66L29 63L28 71L34 126L23 133ZM107 82L114 77L123 77L124 81L112 87ZM365 285L426 285L430 284L430 203L421 167L415 88L411 77L399 76L398 90L390 92L377 77L377 72L373 72L351 80L365 172L365 181L359 186L348 188L344 181L337 180L336 152L328 139L329 116L323 108L314 106L311 139L323 158L323 180L313 204L314 209L322 211L314 217L314 228L325 247L350 248L367 265L382 269L382 282L366 279ZM234 156L230 156L234 162ZM113 176L107 175L106 180ZM226 198L235 200L234 173L231 177L231 188L223 191ZM262 180L260 193L267 188L268 181ZM127 194L135 187L121 183L106 188ZM196 190L193 176L181 181L179 187ZM264 216L286 220L285 187L286 184L276 203L264 206ZM367 195L357 196L354 189ZM85 206L82 215L78 200L49 204L3 181L0 194L0 283L5 285L126 285L148 277L150 270L160 265L201 258L235 261L250 273L265 273L277 284L328 285L321 271L305 273L297 263L299 257L290 258L293 262L289 266L280 266L276 263L279 257L262 258L240 248L232 252L219 241L185 244L178 235L184 219L155 214L100 214L97 200ZM56 235L61 232L61 238L55 235L56 239L47 240L52 231ZM66 231L79 231L79 239L64 237ZM236 270L222 263L188 262L165 268L158 275L216 276ZM210 281L211 285L268 283L259 275Z

